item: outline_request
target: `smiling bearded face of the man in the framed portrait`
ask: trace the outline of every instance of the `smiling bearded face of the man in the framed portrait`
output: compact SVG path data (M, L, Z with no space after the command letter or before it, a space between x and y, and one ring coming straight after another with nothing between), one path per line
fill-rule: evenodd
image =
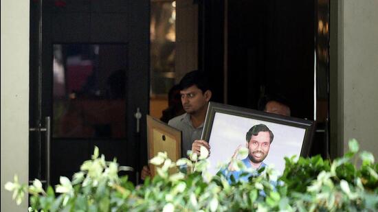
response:
M252 163L261 163L267 157L270 148L269 132L258 132L257 135L252 135L248 145L249 160Z

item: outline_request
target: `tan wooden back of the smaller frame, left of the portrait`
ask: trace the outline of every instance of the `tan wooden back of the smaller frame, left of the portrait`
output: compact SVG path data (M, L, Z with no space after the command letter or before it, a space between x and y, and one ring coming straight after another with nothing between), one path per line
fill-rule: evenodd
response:
M181 131L150 115L146 115L146 119L148 160L156 156L157 152L167 152L172 161L181 158ZM155 176L155 165L150 164L149 167L152 177Z

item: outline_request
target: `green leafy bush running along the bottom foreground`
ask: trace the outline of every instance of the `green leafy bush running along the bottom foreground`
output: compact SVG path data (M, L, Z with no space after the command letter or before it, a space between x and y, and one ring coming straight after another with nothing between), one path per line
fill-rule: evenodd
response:
M357 141L349 145L351 151L332 162L320 156L285 158L279 178L268 167L248 182L231 184L221 173L206 172L205 149L201 156L189 154L176 162L160 152L151 159L157 176L136 187L118 175L130 167L105 161L96 148L72 180L60 178L55 191L43 190L39 180L20 185L16 177L5 189L14 192L17 204L30 193L30 211L378 211L378 165L373 154L358 152ZM362 160L360 167L357 159ZM232 163L246 174L254 172ZM168 174L173 167L181 171Z

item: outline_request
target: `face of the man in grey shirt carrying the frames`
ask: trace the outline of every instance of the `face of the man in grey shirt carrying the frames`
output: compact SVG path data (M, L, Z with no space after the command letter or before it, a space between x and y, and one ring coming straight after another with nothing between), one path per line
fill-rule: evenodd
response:
M186 111L186 113L193 114L197 111L202 110L207 106L210 96L208 95L210 91L202 93L196 85L190 86L187 89L181 90L181 103Z

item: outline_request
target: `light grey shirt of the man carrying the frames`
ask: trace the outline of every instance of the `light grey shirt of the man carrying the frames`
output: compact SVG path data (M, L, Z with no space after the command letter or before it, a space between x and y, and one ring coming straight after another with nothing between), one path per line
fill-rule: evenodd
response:
M192 150L193 141L201 139L203 123L201 123L198 128L194 128L192 121L190 120L190 115L188 113L184 113L183 115L170 119L168 121L168 125L181 130L181 156L186 157L186 152L188 152L188 150Z

